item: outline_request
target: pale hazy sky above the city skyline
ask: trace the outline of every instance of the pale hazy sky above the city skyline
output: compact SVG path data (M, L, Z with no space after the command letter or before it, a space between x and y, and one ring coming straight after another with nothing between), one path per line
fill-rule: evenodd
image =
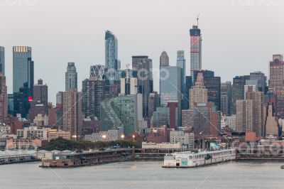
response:
M12 47L32 47L35 83L48 85L49 101L65 90L68 62L75 62L78 88L91 65L104 65L104 32L119 42L121 68L132 55L148 55L153 68L165 50L170 65L185 50L190 73L189 30L202 30L202 69L222 81L261 71L284 53L284 0L0 0L0 46L6 50L6 84L13 90ZM154 90L159 89L154 75Z

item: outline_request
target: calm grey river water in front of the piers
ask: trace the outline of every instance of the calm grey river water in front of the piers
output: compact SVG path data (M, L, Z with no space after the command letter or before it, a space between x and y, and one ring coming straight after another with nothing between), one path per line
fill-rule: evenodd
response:
M232 161L200 168L162 164L136 161L52 170L39 168L39 163L3 165L0 188L284 188L284 162Z

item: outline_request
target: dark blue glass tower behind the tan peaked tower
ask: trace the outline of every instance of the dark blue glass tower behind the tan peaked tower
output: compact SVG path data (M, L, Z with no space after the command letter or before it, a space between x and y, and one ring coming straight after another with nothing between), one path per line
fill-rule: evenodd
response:
M221 77L214 76L210 70L194 71L194 81L197 74L202 72L204 78L204 87L208 90L208 102L214 102L218 110L221 110Z

